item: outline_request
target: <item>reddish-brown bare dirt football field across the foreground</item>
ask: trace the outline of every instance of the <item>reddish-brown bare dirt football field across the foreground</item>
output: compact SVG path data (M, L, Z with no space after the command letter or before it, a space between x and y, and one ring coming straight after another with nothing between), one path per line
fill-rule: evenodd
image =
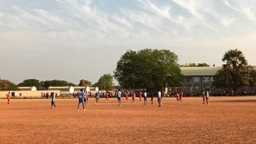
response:
M131 100L131 99L129 99ZM117 99L0 99L0 143L256 143L256 97L163 99L162 107Z

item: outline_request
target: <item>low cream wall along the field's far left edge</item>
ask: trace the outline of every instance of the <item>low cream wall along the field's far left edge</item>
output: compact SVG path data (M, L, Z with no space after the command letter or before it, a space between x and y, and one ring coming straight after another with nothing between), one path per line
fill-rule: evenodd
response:
M41 98L41 93L51 93L54 92L54 94L60 95L60 91L0 91L0 98L7 98L6 94L10 92L11 97L15 98ZM12 92L17 92L18 96L12 96ZM21 96L20 96L21 94Z

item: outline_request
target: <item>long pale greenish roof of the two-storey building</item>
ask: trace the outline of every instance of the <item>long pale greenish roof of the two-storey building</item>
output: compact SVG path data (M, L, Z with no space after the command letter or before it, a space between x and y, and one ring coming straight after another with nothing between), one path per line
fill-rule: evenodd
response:
M181 67L184 76L211 76L215 75L222 67Z

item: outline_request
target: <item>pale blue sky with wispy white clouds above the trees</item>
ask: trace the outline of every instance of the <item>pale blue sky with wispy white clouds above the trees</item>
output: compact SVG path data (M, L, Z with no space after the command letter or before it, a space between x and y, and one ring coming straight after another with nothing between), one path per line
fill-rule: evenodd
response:
M255 20L255 0L0 0L0 78L95 83L145 48L216 66L237 48L256 65Z

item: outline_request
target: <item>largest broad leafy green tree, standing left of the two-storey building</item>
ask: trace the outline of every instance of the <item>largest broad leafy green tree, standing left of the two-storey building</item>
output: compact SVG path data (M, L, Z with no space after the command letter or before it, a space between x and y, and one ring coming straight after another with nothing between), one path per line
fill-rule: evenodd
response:
M128 50L117 62L114 77L123 88L181 86L178 56L170 50Z

